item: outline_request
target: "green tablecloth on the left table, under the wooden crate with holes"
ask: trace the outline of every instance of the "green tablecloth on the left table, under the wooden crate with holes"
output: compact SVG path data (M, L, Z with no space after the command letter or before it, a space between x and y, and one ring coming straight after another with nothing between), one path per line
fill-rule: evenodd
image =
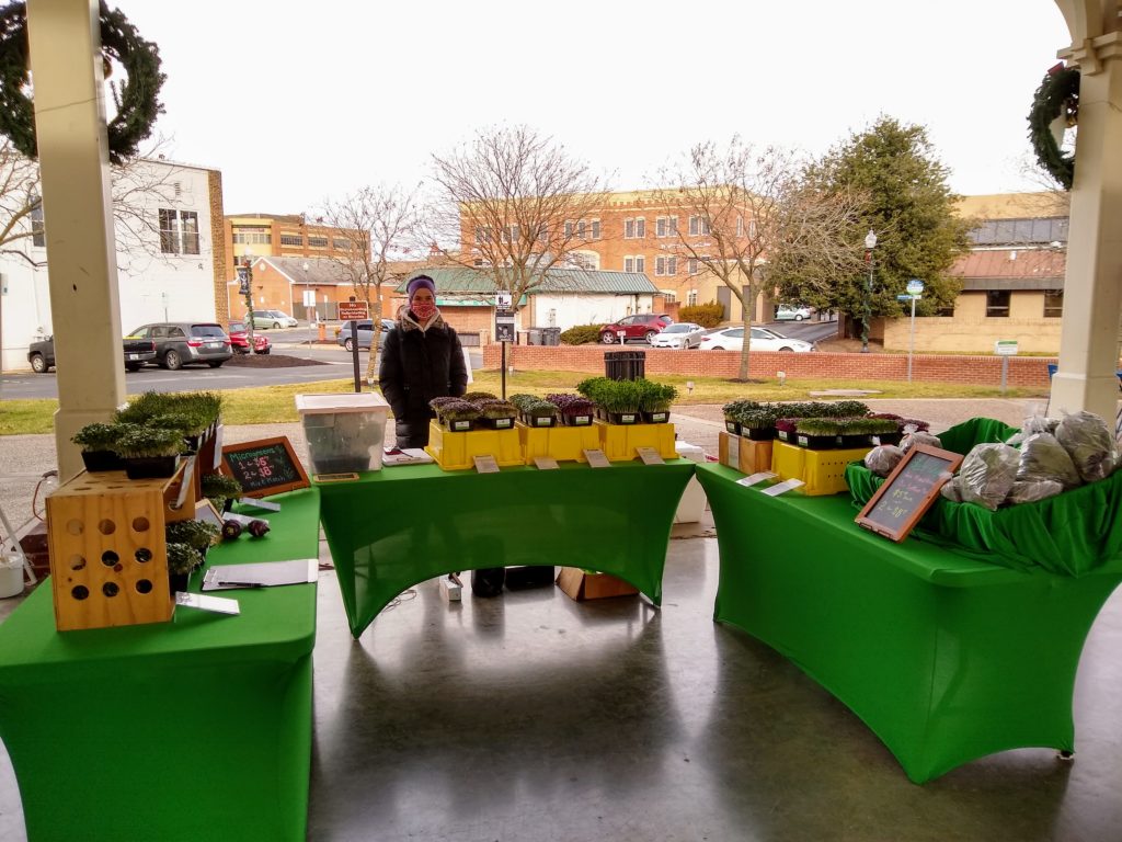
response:
M316 557L319 492L274 500L266 538L208 562ZM220 595L241 614L59 633L47 582L0 625L0 738L31 842L304 839L315 586Z

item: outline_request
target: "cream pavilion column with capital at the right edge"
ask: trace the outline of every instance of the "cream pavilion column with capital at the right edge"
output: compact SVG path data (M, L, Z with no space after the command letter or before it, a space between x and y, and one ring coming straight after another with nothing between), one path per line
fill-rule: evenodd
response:
M1113 421L1122 312L1122 33L1060 55L1080 70L1079 129L1051 405Z

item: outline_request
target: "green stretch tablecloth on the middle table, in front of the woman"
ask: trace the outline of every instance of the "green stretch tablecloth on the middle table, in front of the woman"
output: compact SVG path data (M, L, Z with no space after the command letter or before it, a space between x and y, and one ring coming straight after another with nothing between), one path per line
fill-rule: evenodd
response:
M457 570L565 565L626 579L655 604L693 463L559 470L386 467L320 486L321 519L357 638L411 585Z

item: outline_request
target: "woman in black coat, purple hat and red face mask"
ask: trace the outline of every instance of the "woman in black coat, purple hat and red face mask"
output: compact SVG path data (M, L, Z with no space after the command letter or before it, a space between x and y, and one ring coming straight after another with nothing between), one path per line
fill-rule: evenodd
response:
M429 443L429 420L434 418L429 401L459 397L468 388L460 338L436 309L435 282L417 275L405 289L410 303L386 335L378 369L399 448Z

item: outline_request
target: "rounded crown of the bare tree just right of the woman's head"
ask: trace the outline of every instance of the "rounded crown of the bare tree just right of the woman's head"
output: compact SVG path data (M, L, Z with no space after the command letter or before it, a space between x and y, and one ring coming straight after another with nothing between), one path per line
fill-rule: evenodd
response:
M433 177L430 244L509 292L515 310L549 269L586 266L581 250L601 239L601 179L525 126L486 129L433 155Z

